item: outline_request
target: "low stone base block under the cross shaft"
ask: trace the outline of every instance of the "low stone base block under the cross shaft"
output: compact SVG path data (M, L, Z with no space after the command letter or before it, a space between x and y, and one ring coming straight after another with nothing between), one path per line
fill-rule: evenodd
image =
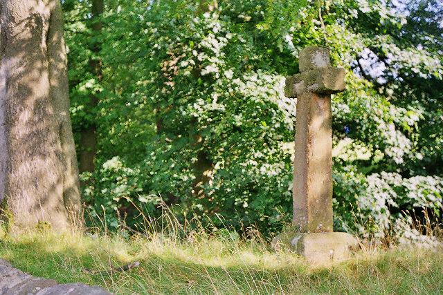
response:
M312 265L330 265L351 258L359 249L359 241L347 233L286 231L273 238L271 247L292 249Z

